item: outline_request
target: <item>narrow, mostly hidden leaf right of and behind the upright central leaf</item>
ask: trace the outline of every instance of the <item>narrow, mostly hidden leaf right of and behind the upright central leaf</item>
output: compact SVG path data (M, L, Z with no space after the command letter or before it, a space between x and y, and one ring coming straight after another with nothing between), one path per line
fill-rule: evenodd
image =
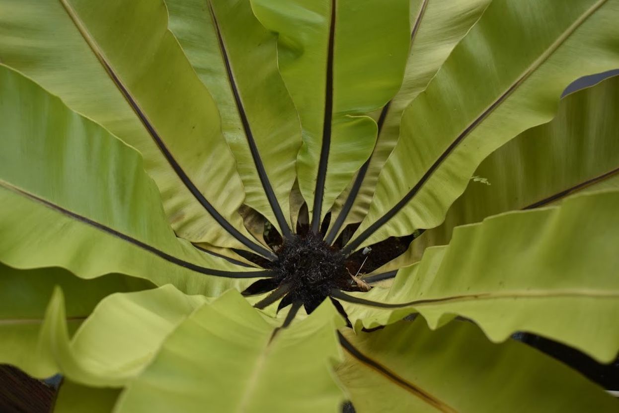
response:
M353 183L340 194L332 208L331 228L327 241L335 240L348 224L361 222L368 213L378 175L396 146L402 112L428 85L457 43L477 22L490 0L413 0L410 6L410 48L404 80L397 95L376 113L378 139L369 160L355 176ZM359 182L357 182L360 180ZM358 189L355 188L358 186ZM351 191L354 199L348 200ZM352 202L350 206L346 202ZM339 217L342 208L348 209ZM344 220L343 220L344 219ZM341 220L339 230L333 229ZM337 232L335 232L337 230Z

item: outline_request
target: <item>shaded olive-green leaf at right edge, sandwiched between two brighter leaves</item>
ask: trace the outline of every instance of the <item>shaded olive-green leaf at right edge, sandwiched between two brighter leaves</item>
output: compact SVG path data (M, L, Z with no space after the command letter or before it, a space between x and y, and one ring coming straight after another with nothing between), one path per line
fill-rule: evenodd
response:
M619 77L561 99L550 123L497 149L475 171L490 185L470 181L445 222L425 231L409 250L375 272L415 263L428 246L449 242L457 225L505 211L561 202L568 194L619 189Z

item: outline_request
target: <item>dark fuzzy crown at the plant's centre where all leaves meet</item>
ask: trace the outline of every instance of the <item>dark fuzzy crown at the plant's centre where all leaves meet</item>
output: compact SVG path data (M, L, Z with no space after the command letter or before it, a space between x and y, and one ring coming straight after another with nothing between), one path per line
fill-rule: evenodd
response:
M300 301L309 313L329 297L332 289L351 289L344 255L313 232L305 237L295 235L282 245L277 256L272 268L275 280L290 287L284 305Z

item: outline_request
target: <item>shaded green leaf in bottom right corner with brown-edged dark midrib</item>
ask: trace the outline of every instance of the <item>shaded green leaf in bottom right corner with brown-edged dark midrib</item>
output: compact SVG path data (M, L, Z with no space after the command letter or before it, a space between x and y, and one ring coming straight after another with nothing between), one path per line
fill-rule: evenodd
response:
M431 331L418 319L344 336L369 358L347 352L337 369L357 413L615 412L619 407L565 365L516 341L491 344L470 323L452 321Z

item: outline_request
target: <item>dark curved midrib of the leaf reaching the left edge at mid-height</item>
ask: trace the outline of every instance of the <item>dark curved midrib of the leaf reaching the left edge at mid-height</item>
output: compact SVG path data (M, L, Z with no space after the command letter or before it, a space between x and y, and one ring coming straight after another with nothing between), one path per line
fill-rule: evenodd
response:
M19 193L28 199L32 199L32 201L39 202L40 204L43 204L46 207L49 207L50 209L53 209L54 211L60 212L63 215L66 215L68 217L71 217L72 219L78 220L79 222L82 222L83 224L87 224L87 225L90 225L91 227L95 227L98 230L101 230L105 233L108 233L109 235L112 235L113 237L119 238L123 241L126 241L128 243L131 243L132 245L135 245L141 248L142 250L155 254L159 258L165 259L165 261L168 261L171 264L184 267L191 271L199 272L201 274L207 274L209 276L225 277L225 278L271 277L271 272L267 270L253 271L253 272L233 272L233 271L223 271L219 269L202 267L197 264L189 263L188 261L184 261L183 259L175 257L162 250L159 250L158 248L155 248L152 245L148 245L147 243L137 240L136 238L130 237L129 235L119 232L115 230L114 228L110 228L107 225L101 224L100 222L96 222L92 219L84 217L83 215L77 214L76 212L69 211L68 209L64 207L61 207L58 204L54 204L53 202L50 202L47 199L40 198L39 196L36 196L35 194L28 193L27 191L24 191L15 186L3 183L2 181L0 181L0 187L5 188L9 191L13 191L15 193Z

